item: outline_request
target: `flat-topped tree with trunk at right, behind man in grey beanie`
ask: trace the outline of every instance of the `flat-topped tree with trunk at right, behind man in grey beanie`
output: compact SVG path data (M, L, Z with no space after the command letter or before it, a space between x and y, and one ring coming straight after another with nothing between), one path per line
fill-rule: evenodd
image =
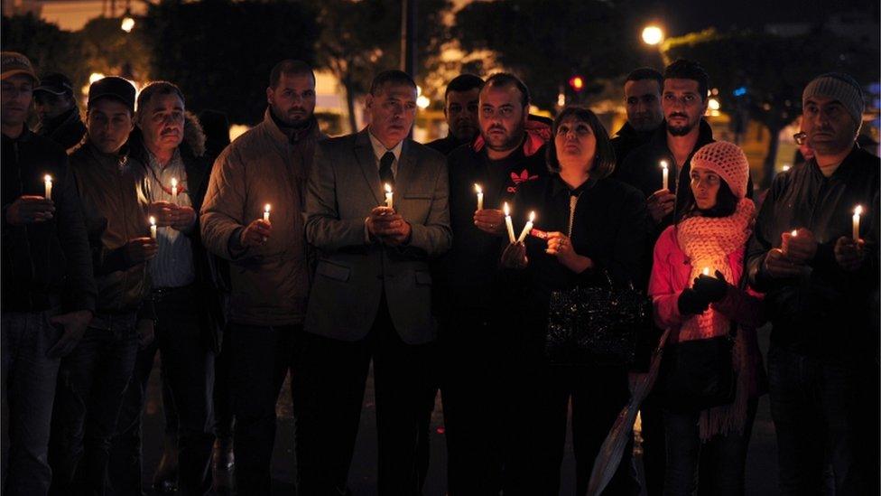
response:
M668 39L668 63L700 61L723 108L743 109L771 133L762 186L774 178L780 131L801 113L802 89L815 76L838 70L862 83L878 77L878 47L851 41L818 27L799 36L707 30Z

